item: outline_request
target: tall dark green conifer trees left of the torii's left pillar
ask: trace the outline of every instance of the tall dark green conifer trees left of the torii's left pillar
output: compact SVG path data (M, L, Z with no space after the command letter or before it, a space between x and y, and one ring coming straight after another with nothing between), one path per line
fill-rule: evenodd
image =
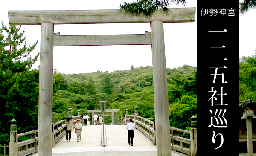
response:
M17 131L37 129L39 72L32 69L38 55L30 53L37 42L26 46L26 36L20 27L3 25L0 28L0 134L9 132L12 118L17 120ZM8 138L7 138L8 139ZM6 142L0 136L0 142Z

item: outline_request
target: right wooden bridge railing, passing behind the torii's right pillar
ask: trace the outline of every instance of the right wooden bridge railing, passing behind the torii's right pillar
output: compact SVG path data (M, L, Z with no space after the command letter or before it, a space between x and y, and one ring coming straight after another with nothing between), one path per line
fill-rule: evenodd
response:
M130 122L130 118L133 119L135 127L137 130L140 130L145 136L148 137L154 144L156 144L155 137L155 121L150 121L146 118L139 116L138 107L135 107L134 115L128 115L128 109L126 110L125 117L121 114L121 119L119 124L127 124ZM193 125L196 125L195 116L192 117ZM192 130L192 129L191 129ZM189 156L196 155L196 129L192 131L192 136L190 139L178 136L178 134L191 134L191 131L182 130L175 127L170 127L170 136L171 136L171 149L175 151L179 151L185 153ZM192 146L191 146L192 144Z

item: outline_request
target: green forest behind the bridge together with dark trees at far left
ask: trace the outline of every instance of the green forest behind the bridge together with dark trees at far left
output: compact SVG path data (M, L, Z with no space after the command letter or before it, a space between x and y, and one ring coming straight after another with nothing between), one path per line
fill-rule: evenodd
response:
M10 121L17 121L18 133L38 129L39 69L32 69L38 55L29 53L37 45L27 46L20 27L0 28L0 144L9 142ZM168 60L167 60L168 61ZM255 67L254 67L255 68ZM191 117L197 114L197 68L189 65L166 68L168 82L170 126L190 129ZM241 81L241 80L240 80ZM253 81L253 80L252 80ZM100 109L99 101L107 101L106 109L120 109L115 121L134 114L154 120L153 69L151 66L131 70L96 71L92 73L61 74L53 71L53 123L67 116L88 114L87 109ZM90 119L91 120L91 119ZM105 117L105 124L111 124ZM22 139L22 138L19 138Z

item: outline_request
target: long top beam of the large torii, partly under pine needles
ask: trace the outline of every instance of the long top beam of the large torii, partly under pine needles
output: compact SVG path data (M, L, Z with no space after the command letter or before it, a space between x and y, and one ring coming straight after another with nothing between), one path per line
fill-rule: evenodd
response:
M120 10L8 11L8 17L10 25L194 22L195 8L171 8L167 16L156 12L151 18L131 17Z

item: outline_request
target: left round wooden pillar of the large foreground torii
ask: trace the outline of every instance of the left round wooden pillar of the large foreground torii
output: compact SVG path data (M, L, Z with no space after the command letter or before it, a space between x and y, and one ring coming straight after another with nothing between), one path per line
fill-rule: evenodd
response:
M53 23L41 24L38 156L52 156Z

